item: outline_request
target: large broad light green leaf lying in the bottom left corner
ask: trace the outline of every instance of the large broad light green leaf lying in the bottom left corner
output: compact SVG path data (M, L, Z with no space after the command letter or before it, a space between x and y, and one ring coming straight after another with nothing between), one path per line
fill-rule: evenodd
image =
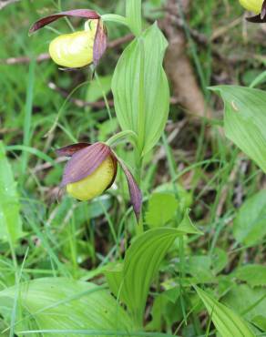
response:
M0 311L5 308L5 315L6 310L12 311L15 293L15 287L0 292ZM132 332L127 313L106 290L93 283L65 278L29 281L20 285L18 305L23 311L19 319L23 320L15 325L16 332L85 329Z

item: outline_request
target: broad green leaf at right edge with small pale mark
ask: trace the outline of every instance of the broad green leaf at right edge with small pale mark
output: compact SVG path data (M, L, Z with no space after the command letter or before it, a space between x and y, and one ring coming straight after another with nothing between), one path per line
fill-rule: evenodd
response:
M225 134L266 172L266 93L249 87L213 87L224 100Z

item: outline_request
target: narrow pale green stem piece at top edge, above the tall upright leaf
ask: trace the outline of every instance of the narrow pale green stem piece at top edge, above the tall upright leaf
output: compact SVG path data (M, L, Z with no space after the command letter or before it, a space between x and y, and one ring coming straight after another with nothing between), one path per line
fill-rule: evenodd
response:
M139 36L141 34L141 0L126 0L126 15L128 26L136 36Z

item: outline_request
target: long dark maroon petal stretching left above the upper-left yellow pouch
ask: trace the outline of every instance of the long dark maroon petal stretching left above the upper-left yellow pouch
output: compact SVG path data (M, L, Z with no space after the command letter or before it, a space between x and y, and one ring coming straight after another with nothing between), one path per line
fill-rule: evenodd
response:
M84 17L86 19L99 19L100 18L100 15L98 15L97 12L92 11L90 9L74 9L72 11L60 12L60 13L56 13L53 15L48 15L36 21L36 23L33 26L31 26L29 30L29 34L36 32L36 30L46 25L49 25L52 22L64 16Z

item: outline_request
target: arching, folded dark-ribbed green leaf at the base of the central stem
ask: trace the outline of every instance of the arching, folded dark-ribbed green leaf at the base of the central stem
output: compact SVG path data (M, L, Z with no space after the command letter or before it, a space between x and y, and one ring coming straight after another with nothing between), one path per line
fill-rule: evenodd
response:
M157 228L139 235L126 253L124 266L119 264L107 270L107 281L119 300L140 327L151 282L159 271L161 261L174 240L184 231Z

